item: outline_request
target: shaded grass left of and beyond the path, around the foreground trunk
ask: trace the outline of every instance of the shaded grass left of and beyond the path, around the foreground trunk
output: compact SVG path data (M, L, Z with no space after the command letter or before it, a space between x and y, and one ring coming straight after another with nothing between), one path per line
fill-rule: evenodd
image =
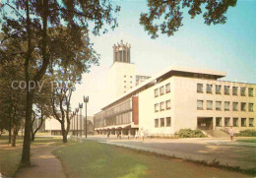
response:
M60 138L35 138L32 146L45 145L52 143L53 145L61 145ZM17 147L8 146L8 136L2 136L0 139L0 173L5 176L13 177L18 170L22 158L23 138L17 138Z

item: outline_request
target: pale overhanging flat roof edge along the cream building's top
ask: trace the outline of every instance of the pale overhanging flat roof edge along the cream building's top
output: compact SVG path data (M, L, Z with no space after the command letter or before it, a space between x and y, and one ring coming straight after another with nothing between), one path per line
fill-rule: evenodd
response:
M193 69L193 68L169 66L169 67L165 68L164 70L160 71L158 74L152 76L150 79L148 79L148 80L144 81L143 83L139 84L135 88L128 90L127 92L123 93L119 97L116 97L111 102L109 102L109 104L102 107L101 110L105 109L106 107L109 107L113 103L121 100L123 97L128 96L129 94L131 94L133 92L136 92L139 89L142 89L144 87L147 87L148 85L151 85L153 82L158 80L160 77L162 77L162 76L164 76L168 73L171 73L171 72L172 73L181 72L181 73L184 73L184 74L191 74L192 73L192 74L211 75L211 76L215 76L217 79L223 78L223 77L226 76L226 73L222 72L222 71L202 70L202 69ZM175 76L175 74L173 76Z

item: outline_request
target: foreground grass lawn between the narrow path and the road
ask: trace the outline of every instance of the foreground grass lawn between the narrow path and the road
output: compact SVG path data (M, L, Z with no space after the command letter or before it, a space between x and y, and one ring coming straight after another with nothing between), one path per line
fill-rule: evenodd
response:
M88 141L53 151L73 177L248 177L238 172Z

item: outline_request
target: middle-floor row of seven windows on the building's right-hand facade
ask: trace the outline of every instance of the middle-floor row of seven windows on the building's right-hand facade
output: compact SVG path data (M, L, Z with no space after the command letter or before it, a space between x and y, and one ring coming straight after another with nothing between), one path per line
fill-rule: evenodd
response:
M216 101L215 109L222 110L223 101ZM238 102L232 102L232 111L238 111ZM197 109L203 110L204 109L204 100L197 100ZM213 101L207 100L206 101L206 109L213 110ZM224 110L230 110L230 102L224 101ZM246 102L240 102L240 111L246 111ZM248 103L248 111L253 112L253 103Z

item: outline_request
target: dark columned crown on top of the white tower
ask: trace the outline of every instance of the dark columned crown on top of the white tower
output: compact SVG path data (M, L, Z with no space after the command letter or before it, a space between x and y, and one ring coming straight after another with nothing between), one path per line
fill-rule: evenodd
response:
M117 43L117 45L113 45L113 63L114 62L124 62L124 63L131 63L131 45L123 43Z

